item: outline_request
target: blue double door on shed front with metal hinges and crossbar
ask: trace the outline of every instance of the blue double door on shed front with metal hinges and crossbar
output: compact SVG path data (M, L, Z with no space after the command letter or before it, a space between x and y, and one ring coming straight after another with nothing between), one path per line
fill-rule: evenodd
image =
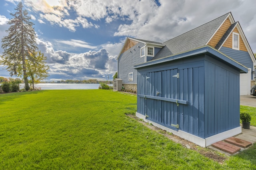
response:
M146 119L178 131L178 69L146 75Z

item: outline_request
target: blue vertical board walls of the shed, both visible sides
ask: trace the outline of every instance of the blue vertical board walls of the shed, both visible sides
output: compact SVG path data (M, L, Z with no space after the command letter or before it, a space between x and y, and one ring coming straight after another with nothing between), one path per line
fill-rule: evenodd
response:
M177 73L179 78L173 77ZM170 129L178 130L172 124L179 124L180 130L204 139L239 127L239 75L208 55L138 68L138 95L149 97L138 97L138 113Z

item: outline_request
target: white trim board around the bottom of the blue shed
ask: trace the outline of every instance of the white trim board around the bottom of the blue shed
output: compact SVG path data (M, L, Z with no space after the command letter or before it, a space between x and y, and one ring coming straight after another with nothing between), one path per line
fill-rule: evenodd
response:
M190 142L193 142L196 145L199 145L201 147L208 147L209 145L212 145L215 142L222 141L224 139L227 139L229 137L232 137L234 135L238 135L239 133L242 133L242 128L241 127L236 127L234 129L230 129L228 131L224 131L222 133L218 133L216 135L213 135L211 137L203 139L203 138L197 137L195 135L192 135L190 133L187 133L187 132L184 132L184 131L181 131L181 130L174 131L172 129L169 129L168 127L164 127L162 125L159 125L158 123L155 123L153 121L150 121L150 120L146 119L146 116L144 116L144 115L142 115L138 112L136 112L136 116L140 119L143 119L147 123L152 123L152 125L154 125L156 127L159 127L163 130L171 132L172 134L174 134L176 136L179 136L179 137L182 137L182 138L184 138L184 139L186 139Z

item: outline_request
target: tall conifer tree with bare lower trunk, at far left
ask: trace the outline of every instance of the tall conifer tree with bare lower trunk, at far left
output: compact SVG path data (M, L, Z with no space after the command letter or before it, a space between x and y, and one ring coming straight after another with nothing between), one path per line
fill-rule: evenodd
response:
M11 76L17 75L18 69L22 67L25 89L29 90L28 74L26 61L35 62L35 55L31 55L37 51L36 33L28 16L28 11L23 10L22 2L18 3L16 12L10 14L14 18L8 21L10 25L6 31L8 35L2 39L1 64L7 66L7 70Z

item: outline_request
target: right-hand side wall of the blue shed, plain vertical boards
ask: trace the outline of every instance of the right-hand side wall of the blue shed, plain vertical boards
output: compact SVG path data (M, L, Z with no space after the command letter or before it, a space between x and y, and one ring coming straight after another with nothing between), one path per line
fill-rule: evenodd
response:
M205 137L239 127L239 71L206 61L205 78Z

